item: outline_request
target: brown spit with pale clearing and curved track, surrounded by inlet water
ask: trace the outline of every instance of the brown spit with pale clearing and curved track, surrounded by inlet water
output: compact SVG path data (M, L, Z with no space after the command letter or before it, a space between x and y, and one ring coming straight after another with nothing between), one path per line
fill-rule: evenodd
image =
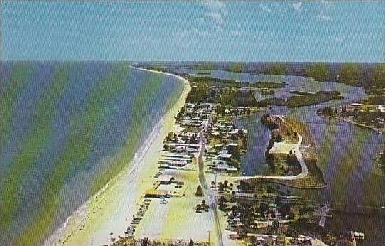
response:
M271 175L255 181L293 188L325 188L327 183L317 166L316 145L307 124L269 114L262 115L261 122L272 131L265 154Z

